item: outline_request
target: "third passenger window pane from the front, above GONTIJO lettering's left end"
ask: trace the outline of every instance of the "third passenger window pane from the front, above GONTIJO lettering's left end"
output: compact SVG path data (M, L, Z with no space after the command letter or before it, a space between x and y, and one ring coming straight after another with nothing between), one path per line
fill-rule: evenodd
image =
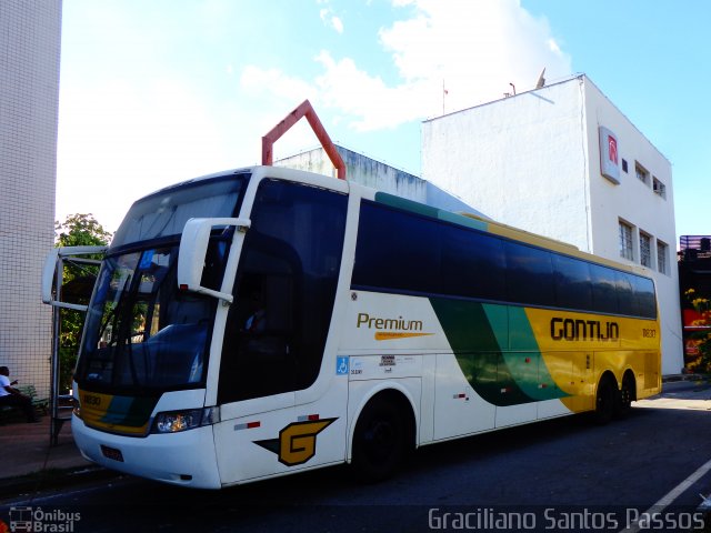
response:
M507 242L508 300L531 305L555 305L551 254Z

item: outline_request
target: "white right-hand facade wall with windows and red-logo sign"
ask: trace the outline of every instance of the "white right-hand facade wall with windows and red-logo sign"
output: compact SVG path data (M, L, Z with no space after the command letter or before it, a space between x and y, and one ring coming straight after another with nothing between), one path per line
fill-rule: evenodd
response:
M671 163L629 121L589 79L584 79L587 135L590 151L590 217L593 228L593 253L624 263L640 264L640 232L652 241L652 268L662 322L662 372L679 373L683 366L679 270L677 268L677 229L674 222L674 188ZM618 138L620 183L613 184L600 171L598 128L602 125ZM637 178L635 163L649 171L649 181ZM621 164L621 161L620 161ZM653 178L665 185L664 197L654 193ZM619 222L632 227L633 260L620 257ZM665 272L659 272L657 243L667 245Z

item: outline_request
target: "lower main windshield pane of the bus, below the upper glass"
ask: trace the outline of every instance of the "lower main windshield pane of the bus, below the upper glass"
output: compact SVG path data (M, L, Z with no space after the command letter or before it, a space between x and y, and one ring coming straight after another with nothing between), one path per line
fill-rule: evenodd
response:
M178 291L177 255L176 244L104 261L77 369L81 386L118 392L203 385L214 300Z

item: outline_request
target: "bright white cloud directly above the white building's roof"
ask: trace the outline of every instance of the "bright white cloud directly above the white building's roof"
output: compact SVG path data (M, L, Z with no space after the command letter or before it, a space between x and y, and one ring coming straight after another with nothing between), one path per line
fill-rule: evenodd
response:
M395 4L402 1L395 0ZM519 0L412 0L415 14L380 32L400 76L409 83L442 80L449 111L501 98L509 83L532 89L542 68L549 78L570 73L570 59ZM422 94L427 112L438 109ZM439 98L441 109L441 91Z

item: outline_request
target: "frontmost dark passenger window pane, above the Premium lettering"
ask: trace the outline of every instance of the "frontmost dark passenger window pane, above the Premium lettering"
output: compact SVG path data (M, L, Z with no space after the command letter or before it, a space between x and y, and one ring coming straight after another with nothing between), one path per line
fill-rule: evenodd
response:
M439 293L440 227L417 214L361 204L353 285Z

